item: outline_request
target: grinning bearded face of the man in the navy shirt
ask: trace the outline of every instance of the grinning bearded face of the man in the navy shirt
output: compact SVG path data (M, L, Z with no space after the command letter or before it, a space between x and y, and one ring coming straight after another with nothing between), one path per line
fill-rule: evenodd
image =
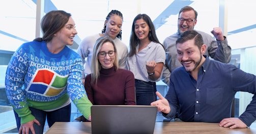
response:
M184 43L178 43L176 45L178 59L184 66L187 72L197 71L202 64L202 53L205 52L206 45L203 45L201 49L194 45L194 40L188 40Z

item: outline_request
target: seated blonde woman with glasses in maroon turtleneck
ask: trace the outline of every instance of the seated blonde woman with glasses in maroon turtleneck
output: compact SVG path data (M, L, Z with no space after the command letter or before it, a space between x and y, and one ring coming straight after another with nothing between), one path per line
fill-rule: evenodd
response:
M84 88L93 105L136 105L134 75L119 69L115 43L99 38L92 56L92 74L87 75Z

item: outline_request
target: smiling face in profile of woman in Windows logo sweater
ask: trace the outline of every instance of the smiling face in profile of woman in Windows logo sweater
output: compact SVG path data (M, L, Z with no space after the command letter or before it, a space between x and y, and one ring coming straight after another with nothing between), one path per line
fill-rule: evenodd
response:
M55 33L56 39L58 42L65 45L73 45L74 37L77 34L75 29L75 22L72 17L69 17L66 25L58 32Z

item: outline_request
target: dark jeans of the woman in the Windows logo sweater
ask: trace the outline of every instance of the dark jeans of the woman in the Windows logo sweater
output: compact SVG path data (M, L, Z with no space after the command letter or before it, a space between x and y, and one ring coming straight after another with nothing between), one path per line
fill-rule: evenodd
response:
M66 107L63 107L61 109L51 111L51 112L45 112L43 110L38 110L30 107L31 114L36 117L36 119L40 122L40 126L34 123L34 129L36 134L43 133L44 131L44 125L45 120L47 118L47 122L49 127L53 125L54 122L69 122L71 117L71 104L69 104ZM16 118L16 124L17 128L19 130L20 127L20 117L18 117L18 114L14 111L14 115ZM30 131L30 133L32 133Z

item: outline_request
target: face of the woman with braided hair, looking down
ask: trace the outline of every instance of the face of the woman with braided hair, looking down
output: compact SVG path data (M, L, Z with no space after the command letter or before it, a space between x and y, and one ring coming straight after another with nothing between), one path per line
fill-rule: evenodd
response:
M122 28L123 20L121 16L113 14L108 20L105 21L106 31L105 33L115 39Z

